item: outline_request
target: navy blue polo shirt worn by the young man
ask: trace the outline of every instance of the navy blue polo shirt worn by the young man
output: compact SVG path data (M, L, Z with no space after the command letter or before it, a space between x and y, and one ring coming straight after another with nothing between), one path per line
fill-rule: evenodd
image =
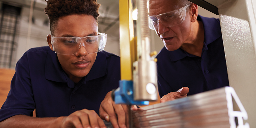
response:
M11 90L0 110L0 121L15 115L68 116L89 109L99 113L106 94L118 87L120 58L98 52L87 76L75 84L68 78L49 46L32 48L16 64Z

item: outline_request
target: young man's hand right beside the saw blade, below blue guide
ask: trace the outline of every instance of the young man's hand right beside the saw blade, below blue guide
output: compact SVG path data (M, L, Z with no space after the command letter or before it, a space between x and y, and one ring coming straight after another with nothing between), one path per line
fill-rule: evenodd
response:
M100 104L100 118L108 122L111 121L114 128L129 128L129 106L124 104L115 104L112 100L111 93L112 91L108 92ZM132 110L137 109L137 106L132 106ZM116 115L118 117L118 121Z

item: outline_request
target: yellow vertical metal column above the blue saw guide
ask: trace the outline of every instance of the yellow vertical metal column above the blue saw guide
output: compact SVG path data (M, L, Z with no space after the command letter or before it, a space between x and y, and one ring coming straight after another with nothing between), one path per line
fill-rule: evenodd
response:
M119 0L119 22L121 80L132 80L132 64L137 57L137 47L134 43L131 0Z

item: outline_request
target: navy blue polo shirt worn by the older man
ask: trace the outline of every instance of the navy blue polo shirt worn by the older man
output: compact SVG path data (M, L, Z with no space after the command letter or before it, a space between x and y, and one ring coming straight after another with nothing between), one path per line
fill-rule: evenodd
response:
M220 20L198 15L204 25L204 46L201 57L181 48L168 51L165 47L156 56L160 97L189 88L188 95L229 86Z

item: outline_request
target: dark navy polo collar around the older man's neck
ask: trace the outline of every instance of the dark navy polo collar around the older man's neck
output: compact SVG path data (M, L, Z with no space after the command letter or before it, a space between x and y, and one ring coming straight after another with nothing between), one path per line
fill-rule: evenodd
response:
M213 41L218 39L221 36L221 29L220 29L220 21L213 18L206 18L203 16L198 15L197 20L201 21L204 26L204 50L208 50L207 45L211 44ZM218 29L216 29L218 28ZM166 49L165 49L166 50ZM169 56L171 61L177 61L185 58L188 56L188 53L186 53L181 48L175 50L175 51L169 51Z

